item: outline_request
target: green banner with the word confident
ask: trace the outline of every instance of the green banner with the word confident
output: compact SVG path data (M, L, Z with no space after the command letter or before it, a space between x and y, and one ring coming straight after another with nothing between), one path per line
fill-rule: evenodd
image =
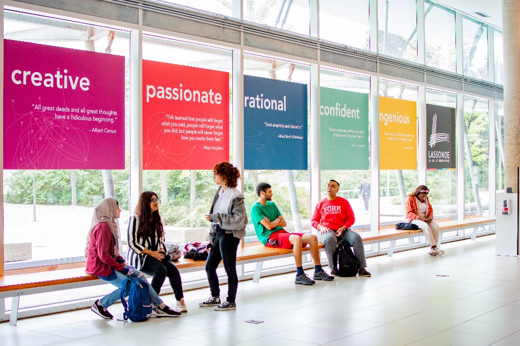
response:
M368 94L320 93L321 169L369 169Z

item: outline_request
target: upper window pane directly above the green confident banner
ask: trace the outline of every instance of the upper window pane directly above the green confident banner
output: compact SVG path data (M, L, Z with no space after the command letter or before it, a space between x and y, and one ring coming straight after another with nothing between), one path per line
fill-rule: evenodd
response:
M368 0L320 1L320 38L369 50L369 36Z

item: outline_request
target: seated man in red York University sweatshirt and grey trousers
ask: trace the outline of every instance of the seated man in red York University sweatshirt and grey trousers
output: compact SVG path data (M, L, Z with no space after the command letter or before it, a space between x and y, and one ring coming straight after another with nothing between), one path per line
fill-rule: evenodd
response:
M352 210L350 203L348 203L345 198L336 196L339 190L339 182L335 180L329 181L327 184L327 198L323 198L316 205L311 224L318 231L318 241L325 246L325 254L329 259L329 267L333 263L337 244L342 241L347 241L354 247L354 254L359 260L361 266L358 273L359 276L371 276L365 269L367 267L367 260L365 259L363 239L358 233L349 229L354 222L356 222L354 210ZM330 274L337 275L334 269L331 270Z

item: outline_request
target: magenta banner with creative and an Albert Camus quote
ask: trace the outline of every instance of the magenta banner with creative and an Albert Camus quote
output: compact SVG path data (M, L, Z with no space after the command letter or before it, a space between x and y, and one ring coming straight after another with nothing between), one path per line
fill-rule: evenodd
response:
M4 40L4 169L124 169L124 57Z

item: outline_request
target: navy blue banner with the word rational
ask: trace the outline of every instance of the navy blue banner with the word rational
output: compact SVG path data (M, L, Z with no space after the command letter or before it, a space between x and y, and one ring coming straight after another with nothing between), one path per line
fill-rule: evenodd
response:
M244 76L244 169L307 169L307 85Z

